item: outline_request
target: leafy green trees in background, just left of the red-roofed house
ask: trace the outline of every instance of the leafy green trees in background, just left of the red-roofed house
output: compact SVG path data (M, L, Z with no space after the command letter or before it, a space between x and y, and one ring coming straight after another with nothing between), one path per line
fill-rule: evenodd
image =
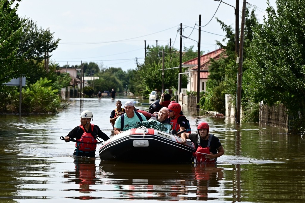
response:
M196 52L184 47L182 61L188 61L197 56ZM164 49L164 89L178 89L179 68L167 69L179 66L179 51L169 46L148 47L145 62L138 65L136 72L132 73L129 82L129 89L132 93L147 96L154 89L162 89L162 51ZM183 77L183 82L187 85L187 79Z

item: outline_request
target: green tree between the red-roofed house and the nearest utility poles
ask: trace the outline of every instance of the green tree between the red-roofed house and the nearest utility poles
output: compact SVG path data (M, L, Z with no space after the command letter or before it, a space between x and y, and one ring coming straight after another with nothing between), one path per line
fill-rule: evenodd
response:
M249 9L246 9L245 17L244 60L247 58L246 48L249 47L253 39L253 28L257 26L257 18L255 17L254 10L250 13ZM209 67L210 75L206 83L207 93L205 96L207 98L203 108L206 110L215 110L224 114L225 94L231 94L233 101L235 101L238 64L235 62L235 31L231 26L224 24L221 20L217 19L217 21L221 24L222 30L226 33L223 41L227 41L227 43L226 45L223 45L221 42L217 42L225 51L220 59L211 60L211 65ZM247 66L244 65L243 71L246 69ZM243 97L243 101L247 99L248 98Z

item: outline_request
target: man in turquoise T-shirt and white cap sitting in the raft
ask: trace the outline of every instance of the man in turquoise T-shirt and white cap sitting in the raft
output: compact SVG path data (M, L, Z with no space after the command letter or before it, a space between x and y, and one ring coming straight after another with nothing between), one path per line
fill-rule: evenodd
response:
M122 114L114 122L114 135L131 128L137 128L142 121L147 121L146 117L142 113L135 111L135 105L132 101L127 101L124 104L124 110L125 114Z

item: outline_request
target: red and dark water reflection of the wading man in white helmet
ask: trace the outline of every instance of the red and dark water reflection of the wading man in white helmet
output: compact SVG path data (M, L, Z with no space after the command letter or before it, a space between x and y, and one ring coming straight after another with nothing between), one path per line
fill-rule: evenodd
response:
M96 167L95 167L95 158L89 157L75 157L75 173L74 172L65 172L64 177L72 178L70 181L79 184L80 193L91 194L92 190L90 185L94 185L96 182ZM75 199L95 199L95 197L84 195L79 197L73 197Z

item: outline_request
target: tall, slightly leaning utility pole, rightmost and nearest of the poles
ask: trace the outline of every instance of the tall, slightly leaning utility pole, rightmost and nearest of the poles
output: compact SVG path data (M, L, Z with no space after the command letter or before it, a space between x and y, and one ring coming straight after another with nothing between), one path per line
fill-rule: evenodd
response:
M236 104L236 120L235 123L240 123L240 111L242 100L242 58L244 49L244 30L245 30L245 13L246 13L246 0L243 0L242 5L242 26L240 30L240 46L239 46L239 68L237 79L237 104Z

